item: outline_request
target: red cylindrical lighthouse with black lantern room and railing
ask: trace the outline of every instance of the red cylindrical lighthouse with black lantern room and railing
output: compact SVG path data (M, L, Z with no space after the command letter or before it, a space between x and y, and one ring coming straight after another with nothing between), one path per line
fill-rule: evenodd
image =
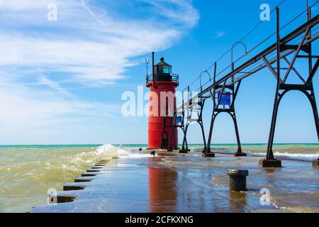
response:
M164 62L164 57L154 65L152 52L152 74L147 74L146 87L150 88L150 114L148 117L148 148L178 148L177 128L164 128L164 117L176 111L175 89L179 86L179 76L172 74L172 66ZM172 118L167 119L170 126ZM170 139L173 130L172 140ZM163 138L162 138L163 137ZM170 146L169 146L170 140Z

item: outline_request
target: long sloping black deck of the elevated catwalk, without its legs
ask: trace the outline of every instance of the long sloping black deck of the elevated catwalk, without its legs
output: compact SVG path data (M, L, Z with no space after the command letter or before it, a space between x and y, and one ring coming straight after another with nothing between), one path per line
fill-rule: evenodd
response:
M303 32L305 32L308 28L313 28L318 23L319 23L319 15L317 15L317 16L313 17L312 19L310 19L310 21L307 21L306 23L303 23L303 25L301 25L300 27L296 28L296 30L292 31L291 33L286 35L284 38L281 38L280 43L288 43L289 41L293 40L294 38L297 38L299 35L301 35ZM305 43L310 43L310 41L316 40L317 38L318 38L318 35L315 38L313 38L311 40L308 40L308 42L306 41ZM183 106L188 106L193 101L196 101L198 96L203 96L204 94L210 92L211 89L216 87L216 85L222 84L223 82L227 81L231 77L235 76L235 74L241 72L242 70L245 70L247 67L250 67L254 63L258 62L259 60L262 60L262 57L269 55L270 53L274 52L275 50L276 50L276 43L271 45L269 48L263 50L259 54L255 55L250 60L248 60L247 62L243 63L242 65L237 67L232 72L226 74L224 77L218 79L218 81L216 81L214 84L211 84L211 86L207 87L206 89L203 89L202 92L199 92L196 96L192 97L188 101L185 101L185 102L183 101L183 104L181 104L180 106L177 107L177 110L175 111L175 114L178 111L180 111L183 108ZM290 54L291 52L294 52L294 51L295 50L291 50L291 51L288 51L288 52ZM287 54L281 55L281 58L285 57L286 55ZM271 63L274 63L274 62L276 62L276 60L273 60ZM264 67L266 67L266 65ZM249 75L254 74L255 72L258 72L259 70L262 70L264 67L260 67L258 70L254 70L254 72L250 73ZM249 75L247 75L247 76L249 76ZM237 79L236 82L238 82L239 80L244 79L244 78L245 77L240 77L240 79Z

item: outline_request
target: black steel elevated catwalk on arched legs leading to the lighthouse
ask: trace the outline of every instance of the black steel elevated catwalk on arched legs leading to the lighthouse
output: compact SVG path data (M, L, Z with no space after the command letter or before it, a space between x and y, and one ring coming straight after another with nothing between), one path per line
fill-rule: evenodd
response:
M237 119L235 114L235 100L237 96L237 92L240 88L240 84L242 79L250 77L251 75L259 72L264 68L268 68L269 72L276 79L276 94L274 97L274 109L272 114L272 123L269 132L269 141L267 147L267 156L264 160L259 162L260 167L281 167L281 161L276 160L274 157L274 153L272 150L272 146L274 143L274 131L276 127L276 117L278 114L279 104L282 97L289 91L295 90L300 91L308 97L310 101L311 107L313 109L313 116L315 119L315 128L318 135L319 140L319 118L318 118L318 109L315 103L315 92L313 90L313 77L315 76L315 72L318 70L319 65L319 55L313 54L312 43L315 42L319 38L318 31L312 33L312 30L315 26L318 25L319 15L317 14L313 18L311 18L311 8L307 9L307 21L302 26L296 28L296 30L286 35L284 38L280 37L280 26L279 26L279 7L276 7L276 43L269 46L269 48L259 52L259 54L252 57L247 62L243 63L239 67L235 68L232 65L232 71L223 76L222 78L216 80L216 68L217 64L214 64L214 73L213 73L213 83L208 87L203 89L203 85L201 84L200 75L200 88L199 92L195 96L187 96L187 99L184 99L180 106L177 107L177 111L174 112L171 116L166 116L165 118L173 118L172 125L169 126L171 128L181 128L184 132L183 145L180 150L181 153L186 153L189 148L187 145L186 134L189 129L189 124L192 121L198 122L201 126L201 131L203 134L203 157L214 157L214 153L211 151L211 138L213 135L213 125L218 114L225 112L230 114L233 118L235 133L237 138L237 153L235 156L245 156L245 153L242 153L241 145L240 145L240 136L237 128ZM288 57L292 56L292 60L288 60ZM298 72L295 65L298 60L303 59L307 60L308 64L308 72L306 75ZM313 64L313 60L315 63ZM288 67L281 67L281 62L286 62L285 64L289 65ZM211 75L208 71L204 71L209 76L209 82L211 82ZM287 79L291 72L294 72L298 78L300 79L299 84L288 84ZM204 84L205 85L205 84ZM188 87L188 94L190 89ZM219 94L218 94L219 92ZM216 95L217 94L217 95ZM230 105L222 105L220 103L221 99L225 94L231 96ZM213 111L211 117L211 125L209 129L208 139L206 140L204 131L203 131L203 119L202 113L206 99L212 99L213 101ZM190 114L196 109L197 118L194 120ZM187 113L185 113L185 111ZM187 118L185 119L185 115L187 114ZM190 114L190 115L189 115ZM182 122L177 123L177 116L182 116ZM186 122L185 122L186 121ZM164 121L164 129L167 127ZM170 136L172 139L172 135ZM207 141L207 143L206 143ZM170 143L169 143L170 144ZM172 149L169 149L172 150ZM315 160L313 164L318 165L319 159Z

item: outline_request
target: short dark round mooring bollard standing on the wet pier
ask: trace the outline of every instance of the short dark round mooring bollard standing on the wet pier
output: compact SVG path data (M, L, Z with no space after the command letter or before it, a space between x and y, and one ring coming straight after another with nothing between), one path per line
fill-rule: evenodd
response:
M230 191L240 192L247 191L246 177L248 176L248 170L228 170L229 175L229 189Z

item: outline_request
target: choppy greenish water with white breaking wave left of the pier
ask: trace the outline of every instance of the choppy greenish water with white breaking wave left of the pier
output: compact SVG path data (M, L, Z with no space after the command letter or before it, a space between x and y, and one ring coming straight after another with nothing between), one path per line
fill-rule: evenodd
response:
M9 212L29 211L31 206L45 204L47 189L62 190L63 184L73 182L75 177L99 160L111 160L112 157L140 158L150 155L111 144L1 148L1 205Z

